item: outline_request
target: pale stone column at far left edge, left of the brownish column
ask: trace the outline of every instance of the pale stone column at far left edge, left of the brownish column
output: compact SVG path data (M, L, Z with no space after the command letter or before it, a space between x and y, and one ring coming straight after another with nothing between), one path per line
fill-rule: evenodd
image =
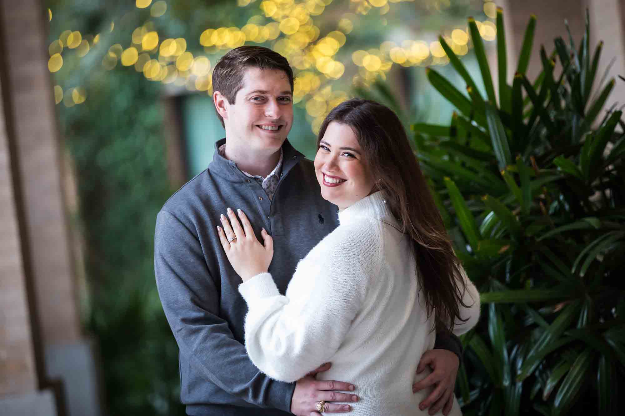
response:
M0 48L0 51L2 49ZM4 54L2 54L4 56ZM0 97L6 88L5 61L0 61ZM19 184L9 149L11 111L0 100L0 414L57 414L51 390L39 390L41 365L37 366L33 332L36 332L22 247L16 199ZM39 369L37 368L39 367ZM39 371L37 371L39 370Z

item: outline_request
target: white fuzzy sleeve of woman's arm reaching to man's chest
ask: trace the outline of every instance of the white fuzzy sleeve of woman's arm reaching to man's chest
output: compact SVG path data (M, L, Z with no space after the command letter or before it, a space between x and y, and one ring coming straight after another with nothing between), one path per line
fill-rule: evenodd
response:
M262 372L292 382L336 353L378 272L379 239L367 234L323 240L299 263L286 295L269 273L239 285L249 307L247 354Z

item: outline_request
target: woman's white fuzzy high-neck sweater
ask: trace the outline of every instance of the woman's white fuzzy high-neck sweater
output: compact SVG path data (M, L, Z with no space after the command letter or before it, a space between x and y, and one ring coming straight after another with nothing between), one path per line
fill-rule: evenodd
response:
M421 355L434 346L409 238L376 192L339 212L340 225L297 265L279 294L271 274L239 286L249 306L245 344L252 362L276 380L300 379L324 362L317 379L347 381L359 402L351 415L426 415L412 394ZM479 319L479 294L467 290L459 335ZM417 294L418 297L417 297ZM461 414L457 402L452 415Z

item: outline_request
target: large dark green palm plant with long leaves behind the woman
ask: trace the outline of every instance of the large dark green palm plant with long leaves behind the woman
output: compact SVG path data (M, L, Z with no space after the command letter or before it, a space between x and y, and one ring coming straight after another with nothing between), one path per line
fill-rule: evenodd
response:
M531 16L508 82L498 9L495 86L476 22L468 26L486 94L441 36L466 93L428 69L456 112L447 126L411 126L457 255L482 294L481 322L462 340L464 414L618 414L625 124L620 109L604 108L616 81L596 81L602 43L591 51L586 19L579 47L570 31L568 42L540 47L542 72L529 80Z

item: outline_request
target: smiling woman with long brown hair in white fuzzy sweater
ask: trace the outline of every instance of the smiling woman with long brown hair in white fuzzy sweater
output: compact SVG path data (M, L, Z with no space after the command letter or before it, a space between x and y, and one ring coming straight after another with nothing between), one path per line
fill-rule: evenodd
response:
M286 295L267 273L273 244L266 230L263 246L241 210L238 219L228 210L217 227L243 280L249 357L286 382L332 362L321 377L359 387L354 415L426 414L419 402L427 392L410 388L428 374L415 374L417 362L434 345L436 320L456 335L476 324L479 294L390 109L343 102L317 142L317 181L339 207L340 225L299 262ZM452 414L460 414L457 403Z

